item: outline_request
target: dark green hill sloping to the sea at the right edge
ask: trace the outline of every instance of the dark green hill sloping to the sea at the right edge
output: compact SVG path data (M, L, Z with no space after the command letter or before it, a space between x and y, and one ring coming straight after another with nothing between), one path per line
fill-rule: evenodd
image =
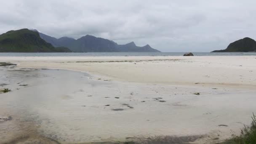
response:
M256 41L245 37L230 43L224 50L216 50L212 52L256 52Z

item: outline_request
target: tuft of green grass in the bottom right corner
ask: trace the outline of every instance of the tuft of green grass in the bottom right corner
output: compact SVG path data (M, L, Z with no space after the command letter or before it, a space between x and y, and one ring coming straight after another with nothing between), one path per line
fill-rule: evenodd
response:
M256 116L253 114L251 125L244 125L240 136L232 135L224 144L256 144Z

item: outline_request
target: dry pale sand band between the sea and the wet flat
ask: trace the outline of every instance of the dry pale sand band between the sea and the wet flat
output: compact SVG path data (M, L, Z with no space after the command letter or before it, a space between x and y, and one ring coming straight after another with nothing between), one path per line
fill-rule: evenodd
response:
M0 61L13 62L18 67L78 70L124 82L256 86L256 56L0 57Z

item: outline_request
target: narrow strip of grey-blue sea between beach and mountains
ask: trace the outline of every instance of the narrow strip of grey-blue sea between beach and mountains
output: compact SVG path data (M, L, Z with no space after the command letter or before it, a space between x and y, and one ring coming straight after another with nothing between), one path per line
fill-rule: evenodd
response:
M0 53L0 56L182 56L184 52L162 53ZM193 52L195 56L256 56L256 53Z

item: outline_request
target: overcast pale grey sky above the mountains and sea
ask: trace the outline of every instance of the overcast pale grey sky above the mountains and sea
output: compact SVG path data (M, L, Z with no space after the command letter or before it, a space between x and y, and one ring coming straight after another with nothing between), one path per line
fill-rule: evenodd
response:
M93 35L163 52L209 52L256 40L256 0L0 0L0 34Z

